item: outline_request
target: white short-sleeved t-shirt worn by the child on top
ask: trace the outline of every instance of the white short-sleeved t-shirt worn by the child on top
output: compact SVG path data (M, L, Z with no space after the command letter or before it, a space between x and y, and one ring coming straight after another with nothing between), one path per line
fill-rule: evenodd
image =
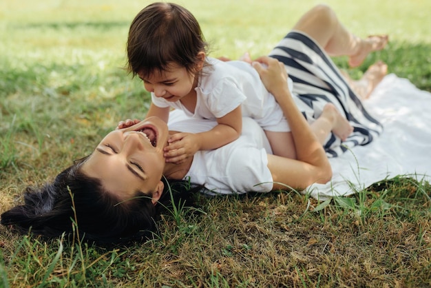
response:
M255 119L264 130L288 132L290 128L274 96L266 90L256 70L244 61L223 62L207 58L211 66L204 67L196 87L197 102L194 112L187 110L180 101L169 102L151 93L151 100L158 107L174 107L187 116L198 119L216 119L239 105L242 116ZM288 79L292 89L293 82Z

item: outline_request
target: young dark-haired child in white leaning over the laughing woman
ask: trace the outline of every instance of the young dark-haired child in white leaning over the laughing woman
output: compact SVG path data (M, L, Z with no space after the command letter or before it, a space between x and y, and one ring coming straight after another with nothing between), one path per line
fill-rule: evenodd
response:
M141 10L129 28L127 56L129 72L138 75L151 92L147 117L159 116L167 122L173 107L218 123L207 132L171 136L165 148L167 162L180 163L198 150L231 143L241 134L242 116L255 119L264 129L273 154L296 157L283 112L251 63L208 57L200 25L185 8L152 3ZM337 113L335 107L324 113L333 125L328 132L336 128L337 136L347 138L353 128Z

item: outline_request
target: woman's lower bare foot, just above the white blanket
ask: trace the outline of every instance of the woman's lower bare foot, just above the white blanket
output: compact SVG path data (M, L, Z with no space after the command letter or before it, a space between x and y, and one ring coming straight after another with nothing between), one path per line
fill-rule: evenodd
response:
M376 88L377 84L381 82L387 73L388 65L382 61L378 61L377 63L371 65L364 73L364 76L362 76L362 78L359 80L353 80L346 72L342 72L342 74L344 74L346 77L350 88L352 88L352 90L355 91L355 93L363 100L370 97L371 92Z

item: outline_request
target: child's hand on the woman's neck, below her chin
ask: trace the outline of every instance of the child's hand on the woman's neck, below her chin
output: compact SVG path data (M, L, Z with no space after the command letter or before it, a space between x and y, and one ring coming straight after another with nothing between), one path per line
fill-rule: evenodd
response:
M200 137L193 133L176 133L167 141L166 162L180 164L193 156L200 148Z

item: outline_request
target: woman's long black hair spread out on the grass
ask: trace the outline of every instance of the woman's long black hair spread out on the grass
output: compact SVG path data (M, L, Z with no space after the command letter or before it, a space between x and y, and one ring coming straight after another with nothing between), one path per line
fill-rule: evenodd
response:
M81 172L83 161L85 158L65 169L52 183L27 187L24 204L1 214L1 224L12 225L21 234L31 232L48 238L79 232L84 240L99 243L145 240L156 230L160 211L169 207L171 199L188 194L184 185L176 185L177 195L172 198L164 191L157 205L143 192L120 201L105 191L98 179ZM162 180L168 190L171 184Z

